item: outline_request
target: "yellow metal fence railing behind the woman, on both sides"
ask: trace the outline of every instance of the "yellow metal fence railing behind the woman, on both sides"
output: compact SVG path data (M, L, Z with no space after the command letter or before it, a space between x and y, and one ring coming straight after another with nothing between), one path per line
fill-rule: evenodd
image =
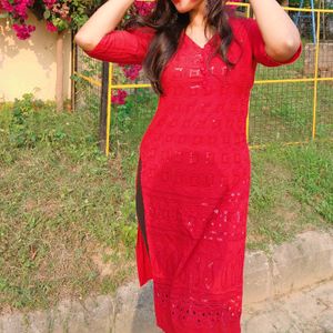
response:
M229 1L228 4L234 4L236 7L245 7L246 17L250 17L250 3L240 3ZM315 63L314 63L314 77L313 78L299 78L299 79L275 79L275 80L254 80L254 84L272 84L272 83L300 83L300 82L314 82L313 88L313 105L312 105L312 140L315 139L316 134L316 110L317 110L317 82L319 81L333 81L333 78L319 78L319 50L320 50L320 32L321 32L321 13L332 13L333 9L309 9L309 8L292 8L292 7L283 7L284 10L287 11L302 11L302 12L315 12L316 13L316 43L315 43ZM333 64L333 63L332 63ZM101 82L85 77L79 72L74 72L77 75L87 80L88 82L100 87ZM110 130L111 130L111 112L112 112L112 91L114 89L127 89L127 88L150 88L150 83L133 83L133 84L112 84L113 78L113 63L109 65L109 91L108 91L108 110L107 110L107 144L105 144L105 154L109 154L110 151ZM250 102L249 102L250 103ZM250 107L250 105L249 105ZM248 112L246 118L246 140L249 142L249 115ZM323 139L331 141L333 138ZM295 141L295 142L284 142L283 144L302 144L307 143L310 140L305 141ZM259 149L264 148L266 144L252 144L249 145L250 149Z

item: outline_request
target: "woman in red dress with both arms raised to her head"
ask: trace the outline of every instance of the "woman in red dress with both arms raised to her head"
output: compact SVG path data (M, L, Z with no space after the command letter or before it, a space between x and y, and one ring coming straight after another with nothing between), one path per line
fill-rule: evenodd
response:
M240 332L250 91L258 63L299 58L300 34L275 0L251 0L256 20L224 0L158 0L114 30L132 2L104 3L75 42L95 59L143 64L160 94L137 173L140 285L153 280L167 333Z

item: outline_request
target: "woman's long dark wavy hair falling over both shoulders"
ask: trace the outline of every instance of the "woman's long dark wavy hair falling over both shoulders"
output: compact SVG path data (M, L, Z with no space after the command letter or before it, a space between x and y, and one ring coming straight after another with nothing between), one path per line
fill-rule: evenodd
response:
M204 33L206 34L209 27L216 29L222 42L220 47L215 46L211 58L219 52L228 68L230 68L234 63L229 61L226 54L234 36L228 22L230 11L226 10L225 2L226 0L205 0ZM155 7L150 14L144 17L137 14L123 26L123 29L133 27L150 27L154 29L155 34L142 62L142 68L158 94L163 93L161 85L162 71L176 51L182 30L189 23L189 12L180 13L171 0L157 0Z

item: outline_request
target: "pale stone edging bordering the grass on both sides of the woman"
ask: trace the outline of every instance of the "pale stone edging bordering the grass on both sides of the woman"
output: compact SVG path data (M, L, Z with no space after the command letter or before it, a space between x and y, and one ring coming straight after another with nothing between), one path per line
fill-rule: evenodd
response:
M243 304L261 302L333 278L333 232L307 231L292 242L246 251ZM158 333L152 282L121 286L84 302L62 301L57 309L0 316L0 333Z

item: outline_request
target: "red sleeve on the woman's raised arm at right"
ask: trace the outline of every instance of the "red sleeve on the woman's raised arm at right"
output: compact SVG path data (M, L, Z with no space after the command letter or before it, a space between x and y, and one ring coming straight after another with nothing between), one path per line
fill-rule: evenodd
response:
M290 59L284 60L284 61L274 60L272 57L270 57L266 53L265 42L264 42L264 39L262 37L262 33L260 31L256 20L252 19L252 18L246 18L246 19L244 19L244 22L245 22L245 28L248 30L248 36L250 38L250 42L252 46L252 53L253 53L254 61L256 61L263 65L266 65L266 67L278 67L278 65L282 65L282 64L292 63L292 62L296 61L297 58L301 56L302 48L303 48L302 42L300 43L300 47L296 50L296 52Z

